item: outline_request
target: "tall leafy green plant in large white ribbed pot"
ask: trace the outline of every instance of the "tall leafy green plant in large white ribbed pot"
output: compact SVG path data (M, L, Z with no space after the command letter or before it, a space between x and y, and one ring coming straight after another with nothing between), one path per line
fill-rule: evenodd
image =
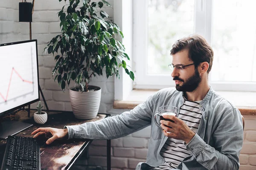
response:
M101 10L104 4L111 7L105 0L69 0L67 11L63 6L58 12L62 33L45 48L48 54L55 55L52 76L61 89L69 86L71 80L75 82L75 87L70 88L70 102L79 119L95 118L99 111L101 88L89 85L92 76L105 72L107 78L119 78L118 69L122 67L134 80L125 47L116 39L123 37L122 31Z

